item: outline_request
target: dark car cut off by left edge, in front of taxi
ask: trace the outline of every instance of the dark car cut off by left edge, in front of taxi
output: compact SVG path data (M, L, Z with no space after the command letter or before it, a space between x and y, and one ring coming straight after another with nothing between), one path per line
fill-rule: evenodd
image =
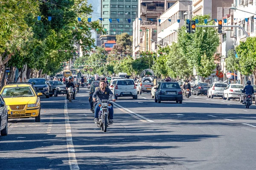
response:
M8 112L3 97L0 95L0 133L1 136L8 134Z

